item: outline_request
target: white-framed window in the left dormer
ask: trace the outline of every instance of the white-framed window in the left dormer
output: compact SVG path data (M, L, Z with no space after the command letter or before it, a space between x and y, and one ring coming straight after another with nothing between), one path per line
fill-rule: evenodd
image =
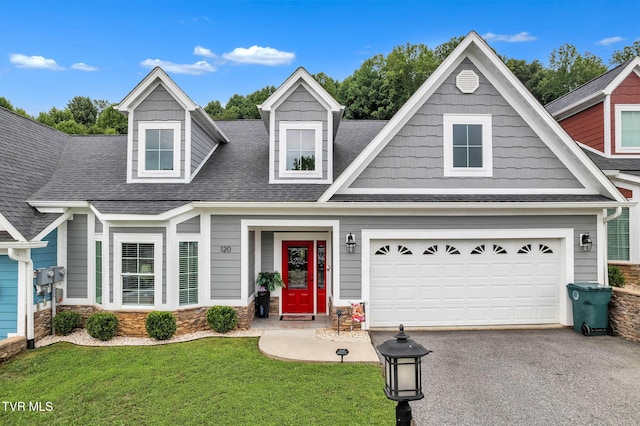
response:
M138 123L138 175L180 177L179 121Z

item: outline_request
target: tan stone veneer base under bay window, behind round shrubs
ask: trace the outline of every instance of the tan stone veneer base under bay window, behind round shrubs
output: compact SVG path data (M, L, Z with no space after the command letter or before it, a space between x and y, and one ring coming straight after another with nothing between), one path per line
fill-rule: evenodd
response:
M87 318L94 312L102 309L94 306L64 305L60 310L74 311L82 318L82 327L85 327ZM208 306L199 308L179 309L171 313L176 317L176 335L194 333L196 331L211 330L207 323ZM247 330L253 321L254 307L234 307L238 313L238 329ZM145 322L147 314L151 311L107 311L118 316L117 336L148 337Z

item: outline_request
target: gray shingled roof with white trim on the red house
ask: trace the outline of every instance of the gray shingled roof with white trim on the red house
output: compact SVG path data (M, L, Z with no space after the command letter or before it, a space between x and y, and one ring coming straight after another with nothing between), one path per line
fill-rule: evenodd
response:
M635 57L612 68L566 95L549 102L545 108L554 117L561 114L564 116L575 114L602 101L634 71L640 75L640 57Z

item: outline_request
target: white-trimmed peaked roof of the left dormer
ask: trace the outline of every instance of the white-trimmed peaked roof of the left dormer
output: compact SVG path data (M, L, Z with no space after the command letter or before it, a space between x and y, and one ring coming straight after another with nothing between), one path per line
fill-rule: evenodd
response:
M227 137L215 125L209 114L187 96L187 94L160 67L155 67L125 98L116 105L116 109L129 113L142 102L158 85L162 85L173 98L218 142L228 142Z

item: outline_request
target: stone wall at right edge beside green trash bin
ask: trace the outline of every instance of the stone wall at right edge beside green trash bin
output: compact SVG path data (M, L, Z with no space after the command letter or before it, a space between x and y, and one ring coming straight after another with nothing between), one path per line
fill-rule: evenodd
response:
M609 318L620 336L640 342L640 292L613 287Z

